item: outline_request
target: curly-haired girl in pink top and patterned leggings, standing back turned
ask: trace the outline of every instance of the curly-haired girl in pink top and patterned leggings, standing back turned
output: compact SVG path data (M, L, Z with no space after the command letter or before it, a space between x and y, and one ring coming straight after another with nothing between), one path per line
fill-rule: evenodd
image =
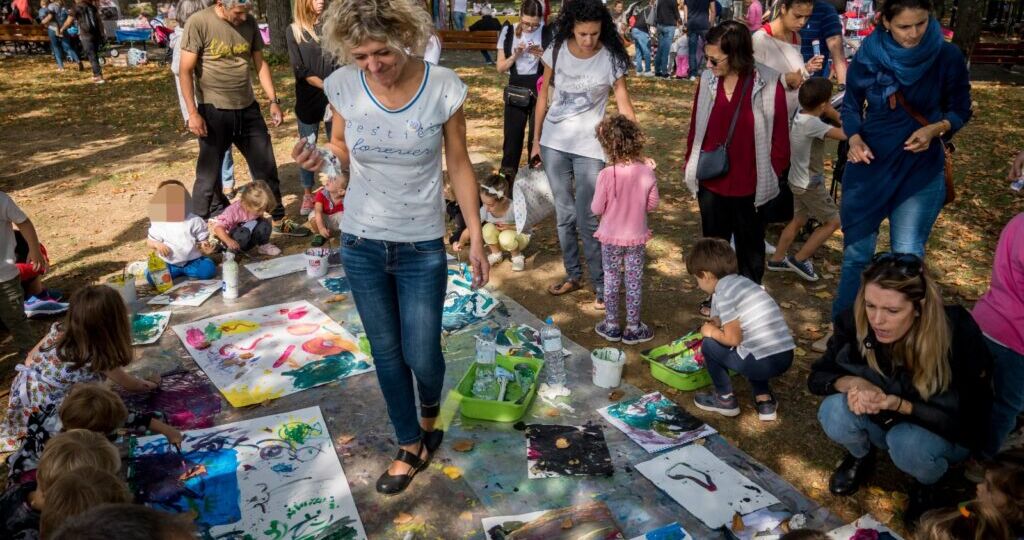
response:
M594 238L601 241L604 321L594 331L628 345L650 341L654 332L640 321L644 248L650 240L647 212L657 208L657 180L643 158L644 135L632 120L611 115L597 126L610 166L597 175L591 210L601 216ZM626 267L625 276L623 267ZM625 281L626 328L618 325L620 285Z

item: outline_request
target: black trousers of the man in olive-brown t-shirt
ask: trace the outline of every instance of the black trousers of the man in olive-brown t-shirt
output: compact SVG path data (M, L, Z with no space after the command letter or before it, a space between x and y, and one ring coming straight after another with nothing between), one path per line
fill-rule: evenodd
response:
M270 132L256 101L245 109L217 109L200 103L199 114L206 121L206 136L199 138L199 161L196 163L196 183L193 185L193 212L208 219L230 204L220 185L220 167L224 153L236 148L246 158L253 179L270 185L278 206L270 211L274 220L285 217L281 203L281 181L278 162L273 158Z

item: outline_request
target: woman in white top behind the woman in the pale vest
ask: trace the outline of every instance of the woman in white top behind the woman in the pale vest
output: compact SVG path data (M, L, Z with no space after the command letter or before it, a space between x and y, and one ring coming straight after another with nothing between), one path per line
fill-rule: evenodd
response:
M814 0L780 0L775 18L754 33L754 59L782 76L785 105L790 119L800 109L797 92L812 73L820 71L824 56L818 55L804 64L800 52L800 30L807 25L814 10Z

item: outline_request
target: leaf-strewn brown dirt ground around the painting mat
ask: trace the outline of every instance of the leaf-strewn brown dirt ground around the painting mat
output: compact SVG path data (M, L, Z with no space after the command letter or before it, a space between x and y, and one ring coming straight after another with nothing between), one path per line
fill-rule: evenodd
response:
M456 68L470 86L465 106L469 144L481 161L478 173L484 173L501 158L503 80L483 67L477 54L445 54L442 65ZM0 162L4 164L0 190L13 197L40 231L53 265L47 285L67 292L143 258L144 207L156 185L168 178L190 184L195 174L198 146L183 129L167 67L109 66L105 71L109 83L94 86L85 73L56 73L49 57L0 59ZM298 169L289 157L297 136L294 114L288 110L293 81L287 67L276 67L274 74L286 120L271 133L285 203L290 214L297 215L301 189ZM998 73L995 77L1010 80ZM643 346L625 347L626 378L644 389L666 392L696 412L691 392L675 391L653 380L639 356L641 348L671 341L700 323L696 305L702 295L682 263L684 250L699 237L696 204L680 173L693 87L687 82L635 78L629 85L649 135L647 152L658 163L662 205L650 219L654 238L647 245L643 297L643 319L655 329L655 338ZM1005 179L1009 162L1024 148L1024 127L1018 122L1024 90L978 82L974 98L976 117L957 136L958 200L943 211L929 245L930 262L947 299L968 305L988 285L1000 229L1024 210L1022 199ZM248 172L238 153L236 158L238 181L244 183ZM771 230L769 240L777 235L778 227ZM305 245L301 239L275 242L286 252ZM806 389L810 365L817 357L810 344L827 331L841 248L842 237L837 235L819 252L816 263L823 279L818 283L803 282L792 273L769 273L765 278L799 344L793 368L773 382L780 400L779 419L772 423L757 419L743 382L737 384L743 404L740 417L697 414L842 517L871 512L899 528L907 482L891 464L884 464L869 487L854 497L828 494L828 474L841 452L821 432L816 420L819 400ZM592 307L594 296L588 289L563 297L545 292L563 276L553 221L536 231L526 268L513 274L503 262L494 269L492 283L542 319L553 316L562 331L585 347L605 344L593 330L603 315ZM41 335L47 324L34 323L34 328ZM6 387L20 359L11 351L9 340L2 347L0 376ZM590 369L589 361L577 362L575 369Z

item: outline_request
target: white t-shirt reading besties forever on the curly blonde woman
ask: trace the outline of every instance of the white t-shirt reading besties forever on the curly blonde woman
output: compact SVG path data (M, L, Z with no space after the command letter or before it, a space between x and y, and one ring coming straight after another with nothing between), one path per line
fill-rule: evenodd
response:
M374 97L355 66L331 74L324 90L345 120L345 233L388 242L443 237L442 129L466 99L459 76L425 63L419 90L394 110Z

